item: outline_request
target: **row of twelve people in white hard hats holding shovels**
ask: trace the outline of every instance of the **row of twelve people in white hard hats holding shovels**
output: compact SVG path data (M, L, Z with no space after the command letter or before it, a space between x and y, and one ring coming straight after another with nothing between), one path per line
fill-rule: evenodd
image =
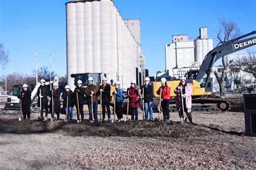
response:
M89 77L88 86L83 87L82 81L78 80L75 90L72 92L70 86L65 86L65 91L60 93L58 88L58 83L53 83L53 89L50 91L49 87L45 85L45 80L42 79L40 81L41 85L37 90L38 102L37 106L41 109L41 117L43 117L43 110L45 110L45 120L48 120L48 113L51 113L51 117L54 117L54 113L57 114L57 120L59 120L59 113L61 111L60 108L60 97L63 98L63 107L64 112L66 113L66 119L73 120L73 106L76 106L77 110L77 119L84 119L84 111L83 106L86 103L89 108L89 120L98 121L98 96L101 98L102 105L102 114L103 120L105 120L105 113L107 112L107 120L110 121L110 91L111 86L107 84L107 79L104 77L102 79L102 84L98 87L93 85L93 79ZM170 92L171 89L167 85L167 81L165 78L161 78L160 80L161 86L159 87L157 94L160 95L161 100L161 108L163 110L164 121L170 120ZM114 91L112 95L115 100L115 111L117 114L118 121L122 121L123 113L122 113L122 103L124 100L123 90L120 88L119 81L114 83ZM140 93L140 95L139 95ZM131 120L138 120L138 108L140 105L140 96L143 99L145 106L145 119L153 120L153 87L150 84L150 78L146 77L144 79L144 85L140 89L136 85L136 81L131 81L131 86L127 88L126 94L127 98L129 98L129 109L131 111ZM186 78L182 78L180 80L179 85L174 89L174 93L176 94L176 106L179 111L179 117L181 120L184 118L184 111L187 114L187 118L192 122L191 115L191 93L192 89L188 83L186 83ZM86 97L84 97L84 94ZM60 96L61 95L61 96ZM48 104L48 96L51 98L50 105ZM21 93L18 96L21 99L22 103L22 112L23 118L26 119L26 115L28 115L28 119L30 119L30 104L31 104L31 92L28 89L28 85L24 84ZM93 114L92 114L93 113Z

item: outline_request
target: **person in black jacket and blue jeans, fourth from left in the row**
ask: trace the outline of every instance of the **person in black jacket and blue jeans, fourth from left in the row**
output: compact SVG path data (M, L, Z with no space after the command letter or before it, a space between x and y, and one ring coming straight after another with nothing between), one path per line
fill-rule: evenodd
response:
M66 113L66 119L73 120L73 97L72 97L72 90L70 90L69 85L65 86L65 91L62 93L63 98L63 107ZM67 106L68 104L68 106ZM68 110L66 108L68 107Z

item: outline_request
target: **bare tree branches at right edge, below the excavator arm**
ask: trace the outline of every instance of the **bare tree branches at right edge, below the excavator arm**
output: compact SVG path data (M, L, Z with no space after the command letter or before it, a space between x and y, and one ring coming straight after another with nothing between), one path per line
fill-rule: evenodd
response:
M248 51L248 55L243 56L235 61L235 64L239 66L239 69L251 73L256 78L256 55L255 52Z

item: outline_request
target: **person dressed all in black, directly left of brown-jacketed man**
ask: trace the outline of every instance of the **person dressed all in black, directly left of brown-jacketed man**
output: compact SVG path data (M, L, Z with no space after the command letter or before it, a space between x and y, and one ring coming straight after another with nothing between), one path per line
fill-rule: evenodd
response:
M84 98L84 88L82 87L82 81L78 80L77 81L77 86L76 89L74 90L72 97L74 99L74 104L76 105L76 110L78 112L78 107L79 107L79 114L81 115L81 119L84 119L84 103L85 103L85 98ZM78 101L77 101L78 99ZM79 114L77 114L77 120L80 120Z

